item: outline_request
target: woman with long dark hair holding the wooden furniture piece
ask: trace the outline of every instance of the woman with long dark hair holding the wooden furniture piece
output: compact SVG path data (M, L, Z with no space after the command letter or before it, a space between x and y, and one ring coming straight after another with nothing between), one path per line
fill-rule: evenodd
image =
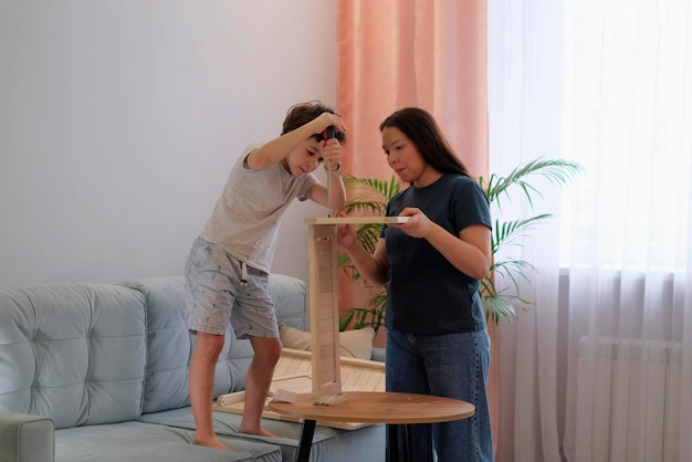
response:
M478 295L491 262L487 198L433 117L397 111L380 125L382 149L409 187L387 206L374 254L340 225L338 246L371 284L387 285L387 390L461 399L472 418L413 428L416 461L492 461L485 392L490 338Z

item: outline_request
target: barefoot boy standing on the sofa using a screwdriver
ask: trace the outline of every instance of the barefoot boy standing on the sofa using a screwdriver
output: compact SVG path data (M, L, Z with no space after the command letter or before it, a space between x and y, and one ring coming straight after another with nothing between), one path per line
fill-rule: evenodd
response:
M336 138L325 139L329 126ZM319 102L291 107L281 136L242 153L190 250L185 274L188 328L197 335L189 372L196 444L228 450L214 434L211 405L229 322L235 336L250 339L254 350L239 432L274 437L262 428L261 419L282 349L268 281L279 224L296 197L334 210L344 207L339 158L345 133L340 116ZM323 160L333 180L331 195L312 175Z

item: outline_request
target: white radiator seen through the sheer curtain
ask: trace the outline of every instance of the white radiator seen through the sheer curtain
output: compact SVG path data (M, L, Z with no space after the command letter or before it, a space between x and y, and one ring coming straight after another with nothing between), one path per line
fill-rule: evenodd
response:
M681 344L583 337L577 370L576 462L679 462Z

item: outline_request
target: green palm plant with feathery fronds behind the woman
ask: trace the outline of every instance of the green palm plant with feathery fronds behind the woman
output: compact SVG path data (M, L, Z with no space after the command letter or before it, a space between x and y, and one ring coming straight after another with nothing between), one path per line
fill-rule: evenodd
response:
M503 199L512 199L514 193L524 197L532 210L536 196L541 191L532 185L531 179L541 177L552 185L566 186L584 168L574 161L563 159L537 158L525 165L517 166L507 176L491 174L487 179L479 178L479 185L485 191L487 200L494 209L502 212ZM352 192L352 199L344 207L346 214L365 213L381 216L385 213L389 199L401 190L401 183L392 176L384 181L376 178L359 178L349 176L344 180L346 188ZM526 308L531 301L518 294L518 281L528 280L536 271L527 261L502 256L495 259L500 251L508 245L518 245L518 239L525 235L536 224L552 218L552 213L538 213L518 220L504 221L502 217L495 218L491 234L491 250L493 261L490 272L481 281L479 293L483 302L485 317L497 323L500 318L513 319L518 307ZM356 229L358 240L366 250L373 252L377 243L381 224L364 224ZM356 284L367 286L358 270L353 265L348 255L339 254L338 265L345 272L347 279ZM499 292L495 285L496 279L510 281L510 287L514 290ZM384 324L386 308L386 287L376 292L366 303L367 306L343 309L339 315L339 328L343 330L353 323L353 328L371 326L375 332Z

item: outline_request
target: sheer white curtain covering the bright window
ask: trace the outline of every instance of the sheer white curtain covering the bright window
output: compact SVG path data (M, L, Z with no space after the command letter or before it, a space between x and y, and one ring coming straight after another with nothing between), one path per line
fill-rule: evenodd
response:
M521 287L535 305L499 329L499 461L692 460L691 3L487 2L490 170L586 169L539 185L556 218L512 250L538 273ZM672 345L677 367L610 366L605 342L626 339ZM656 387L665 402L642 405Z

